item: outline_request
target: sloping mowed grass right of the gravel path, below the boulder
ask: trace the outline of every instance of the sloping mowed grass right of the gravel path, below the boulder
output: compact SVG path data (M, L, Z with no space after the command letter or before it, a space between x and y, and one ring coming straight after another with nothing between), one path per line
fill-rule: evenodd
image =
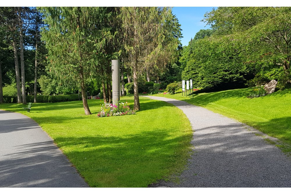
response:
M291 152L291 90L279 90L252 99L247 98L249 91L250 89L245 88L211 93L195 94L194 92L192 99L182 97L181 91L174 95L157 94L156 96L184 100L234 118L282 140L288 145L283 147L283 151Z

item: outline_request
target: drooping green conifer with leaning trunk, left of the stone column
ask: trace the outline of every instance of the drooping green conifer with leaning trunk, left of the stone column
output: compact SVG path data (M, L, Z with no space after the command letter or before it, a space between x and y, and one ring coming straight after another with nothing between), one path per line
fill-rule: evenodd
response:
M107 28L111 12L104 7L45 7L42 32L48 67L66 86L81 88L85 114L91 114L85 91L88 80L102 67L104 47L114 37ZM106 68L104 68L106 69Z

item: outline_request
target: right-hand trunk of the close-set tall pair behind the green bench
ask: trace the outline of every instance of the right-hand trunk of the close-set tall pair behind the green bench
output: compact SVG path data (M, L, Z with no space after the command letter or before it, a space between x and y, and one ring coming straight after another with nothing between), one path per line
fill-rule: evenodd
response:
M19 20L19 44L20 44L20 64L21 64L21 86L22 86L22 103L26 104L26 91L25 91L25 74L24 74L24 48L23 48L23 32L22 32L22 19L21 8L18 8Z

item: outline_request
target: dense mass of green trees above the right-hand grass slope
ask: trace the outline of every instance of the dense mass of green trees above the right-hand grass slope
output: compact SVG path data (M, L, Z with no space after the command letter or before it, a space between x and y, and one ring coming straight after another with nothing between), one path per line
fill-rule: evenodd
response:
M205 14L211 30L183 48L183 79L194 87L290 85L291 12L288 7L219 7Z

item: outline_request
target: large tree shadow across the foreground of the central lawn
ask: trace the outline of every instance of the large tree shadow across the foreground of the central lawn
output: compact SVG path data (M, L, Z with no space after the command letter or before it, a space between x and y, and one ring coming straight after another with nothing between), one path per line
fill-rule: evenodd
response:
M190 139L191 135L173 137L154 129L128 136L60 137L55 141L68 149L66 155L90 186L146 187L173 173L175 167L184 168L181 164L189 157Z

